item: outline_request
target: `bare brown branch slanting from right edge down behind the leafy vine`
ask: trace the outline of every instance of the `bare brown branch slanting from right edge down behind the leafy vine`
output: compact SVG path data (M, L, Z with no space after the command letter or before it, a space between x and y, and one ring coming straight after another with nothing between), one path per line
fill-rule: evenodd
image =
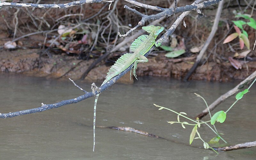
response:
M236 94L239 90L241 90L242 88L244 88L245 86L247 86L249 83L252 82L252 80L254 80L256 78L256 71L253 72L250 76L248 76L245 80L243 80L241 83L239 83L235 88L231 89L230 91L228 91L227 93L221 95L217 100L215 100L210 106L209 109L210 111L212 111L213 109L215 109L221 102L225 101L226 99L228 99L228 97ZM197 115L196 117L198 117L199 119L202 119L204 116L206 116L208 114L208 109L205 108L203 110L202 113L200 113L199 115Z

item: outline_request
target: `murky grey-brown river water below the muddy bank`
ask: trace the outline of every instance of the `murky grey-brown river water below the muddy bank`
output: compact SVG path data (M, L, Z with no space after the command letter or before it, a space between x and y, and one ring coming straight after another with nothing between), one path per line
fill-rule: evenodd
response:
M0 73L0 112L9 113L37 108L41 103L51 104L82 95L69 80L51 80L22 74ZM90 91L91 84L76 83ZM189 146L193 127L183 129L177 115L158 110L153 103L186 112L188 116L200 113L205 104L194 93L202 95L210 104L238 82L180 82L169 78L139 77L133 85L116 83L102 92L98 99L97 126L131 127L166 139L108 128L96 128L96 148L92 151L92 122L94 97L77 104L46 110L41 113L0 119L0 159L47 160L119 160L119 159L256 159L256 148L220 152L204 150L196 139ZM100 86L100 82L97 83ZM255 85L232 108L227 120L217 124L228 144L255 141ZM235 101L232 97L216 111L227 110ZM204 120L208 120L205 117ZM187 121L181 119L181 121ZM209 141L214 134L202 125L201 137ZM178 143L173 143L176 141ZM222 141L220 141L223 144Z

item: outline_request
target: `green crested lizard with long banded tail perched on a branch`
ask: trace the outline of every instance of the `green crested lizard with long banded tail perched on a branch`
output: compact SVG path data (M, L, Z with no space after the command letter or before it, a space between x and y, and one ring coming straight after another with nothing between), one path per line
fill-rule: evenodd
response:
M131 66L133 63L133 75L137 79L136 75L136 69L138 63L145 63L148 62L148 59L144 56L153 45L156 45L156 47L159 47L161 43L156 44L156 37L159 33L161 33L164 30L164 27L161 26L144 26L142 27L143 30L147 31L149 35L141 35L137 39L135 39L130 48L133 53L125 53L122 55L119 59L116 60L116 63L110 67L106 79L101 84L104 85L109 80L114 78L119 73L123 72L126 68ZM131 79L131 73L130 72L130 79ZM94 112L93 112L93 151L95 149L95 123L96 123L96 106L97 101L100 94L97 94L94 101Z

